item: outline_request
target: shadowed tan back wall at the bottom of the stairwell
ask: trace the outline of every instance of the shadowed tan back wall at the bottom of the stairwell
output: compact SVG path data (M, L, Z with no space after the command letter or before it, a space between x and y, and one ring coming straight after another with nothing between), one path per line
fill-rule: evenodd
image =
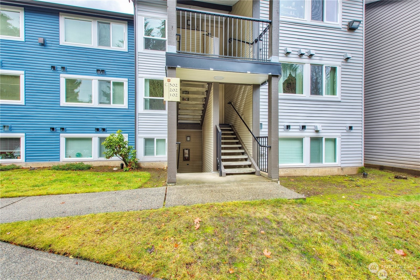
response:
M191 137L189 142L186 141L187 135ZM181 142L178 173L202 172L202 131L178 129L176 141ZM184 161L184 149L189 149L189 161Z

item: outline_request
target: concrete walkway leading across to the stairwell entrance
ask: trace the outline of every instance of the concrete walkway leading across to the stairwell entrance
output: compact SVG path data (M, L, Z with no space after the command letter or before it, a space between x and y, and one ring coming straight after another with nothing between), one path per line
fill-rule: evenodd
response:
M42 195L0 199L0 222L91 213L157 209L207 202L304 198L263 176L219 177L216 173L178 174L175 186L100 193Z

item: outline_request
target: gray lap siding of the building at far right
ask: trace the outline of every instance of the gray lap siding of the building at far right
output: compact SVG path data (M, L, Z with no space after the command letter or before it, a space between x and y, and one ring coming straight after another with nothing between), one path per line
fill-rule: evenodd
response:
M420 2L365 15L365 163L420 169Z

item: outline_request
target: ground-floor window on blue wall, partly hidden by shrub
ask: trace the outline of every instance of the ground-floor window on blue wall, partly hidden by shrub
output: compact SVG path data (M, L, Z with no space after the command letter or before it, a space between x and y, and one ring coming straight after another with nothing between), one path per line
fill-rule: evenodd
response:
M61 161L105 160L106 150L102 143L106 137L108 134L61 134ZM124 134L124 137L127 139L128 135Z

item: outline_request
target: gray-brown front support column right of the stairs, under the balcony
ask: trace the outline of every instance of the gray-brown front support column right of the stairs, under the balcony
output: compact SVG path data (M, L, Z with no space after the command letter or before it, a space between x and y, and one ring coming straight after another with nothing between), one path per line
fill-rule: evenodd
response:
M271 2L271 1L270 1ZM278 76L268 75L268 177L278 179Z

